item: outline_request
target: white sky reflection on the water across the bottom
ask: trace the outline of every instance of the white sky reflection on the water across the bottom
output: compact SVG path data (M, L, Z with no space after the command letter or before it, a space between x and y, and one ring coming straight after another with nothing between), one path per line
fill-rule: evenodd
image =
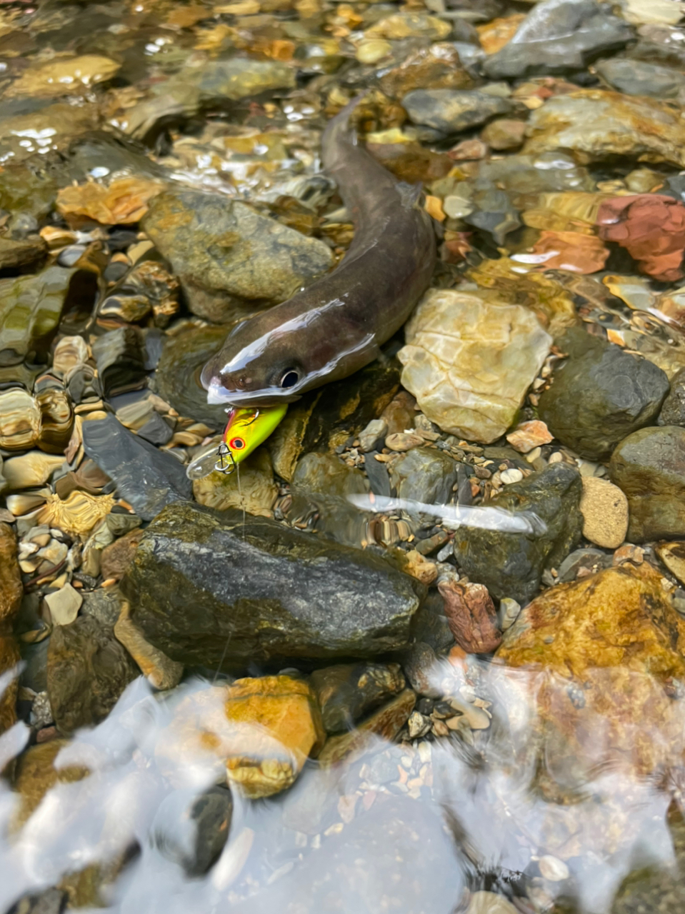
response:
M618 671L595 672L610 687ZM621 702L599 713L572 701L569 717L562 675L469 657L431 677L464 711L444 739L369 736L337 766L309 761L290 791L248 801L233 789L232 803L224 760L255 739L268 754L270 735L226 720L220 684L155 695L138 679L99 727L31 750L55 756L42 799L49 760L23 770L30 752L22 793L2 785L0 909L97 866L100 903L117 914L449 914L483 888L521 911L604 914L632 871L674 865L685 715L672 690L628 675ZM627 713L631 696L643 704ZM476 709L486 726L468 726ZM21 723L5 733L3 763L27 735Z

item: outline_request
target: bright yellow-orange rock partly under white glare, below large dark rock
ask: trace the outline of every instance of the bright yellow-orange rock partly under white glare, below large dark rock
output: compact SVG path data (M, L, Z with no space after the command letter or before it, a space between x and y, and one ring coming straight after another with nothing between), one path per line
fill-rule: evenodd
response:
M290 676L237 679L187 696L155 747L160 769L182 782L189 765L211 768L246 796L290 787L325 739L309 685Z

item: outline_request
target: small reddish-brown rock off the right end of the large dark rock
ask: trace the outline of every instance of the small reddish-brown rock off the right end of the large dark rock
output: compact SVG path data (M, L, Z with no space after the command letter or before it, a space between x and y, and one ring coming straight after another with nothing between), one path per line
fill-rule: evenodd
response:
M450 631L467 654L488 654L499 647L502 635L497 626L495 604L487 587L441 580L438 590L444 600L444 614Z

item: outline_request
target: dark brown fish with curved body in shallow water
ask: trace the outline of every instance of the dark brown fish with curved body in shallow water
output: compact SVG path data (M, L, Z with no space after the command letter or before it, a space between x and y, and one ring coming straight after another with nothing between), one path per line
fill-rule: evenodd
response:
M322 162L355 226L336 270L239 324L202 371L210 403L292 402L368 365L433 275L435 237L420 186L397 181L357 142L351 102L326 126Z

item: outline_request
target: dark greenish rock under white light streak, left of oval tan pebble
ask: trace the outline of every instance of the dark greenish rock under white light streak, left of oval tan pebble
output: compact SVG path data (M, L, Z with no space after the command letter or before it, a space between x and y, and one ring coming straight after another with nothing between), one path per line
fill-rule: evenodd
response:
M515 514L531 512L544 522L544 533L507 533L463 527L455 533L455 557L468 577L485 584L497 600L528 602L538 592L542 572L558 568L581 538L583 493L580 473L553 463L520 483L508 485L487 503Z

